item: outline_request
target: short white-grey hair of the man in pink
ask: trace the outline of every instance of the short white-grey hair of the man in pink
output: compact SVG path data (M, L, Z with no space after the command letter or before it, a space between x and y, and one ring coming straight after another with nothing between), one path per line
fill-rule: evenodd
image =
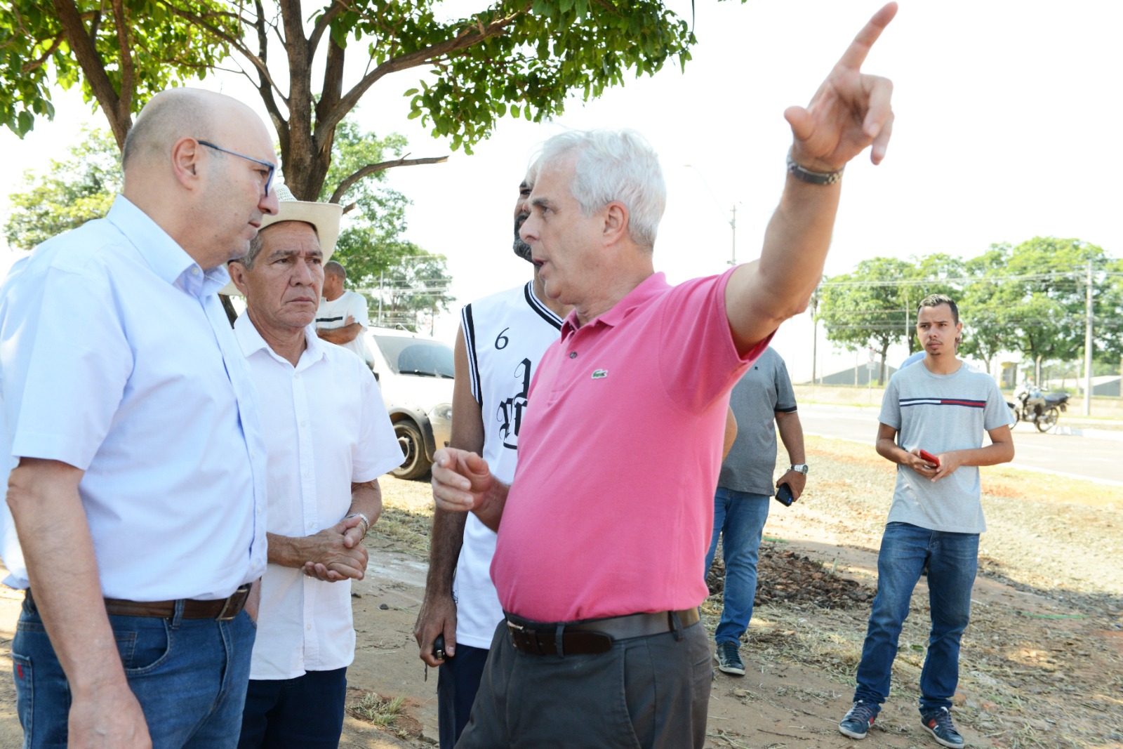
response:
M560 133L542 144L530 168L532 180L537 182L545 168L569 156L576 159L569 192L582 216L619 201L628 209L632 241L654 247L667 207L667 184L651 144L634 130Z

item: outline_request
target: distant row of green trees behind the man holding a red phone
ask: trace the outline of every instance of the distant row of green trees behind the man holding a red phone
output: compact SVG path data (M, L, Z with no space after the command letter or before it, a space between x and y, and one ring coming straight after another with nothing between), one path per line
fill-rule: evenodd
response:
M1090 284L1089 284L1090 265ZM1047 362L1083 359L1086 304L1092 289L1093 359L1119 371L1123 357L1123 261L1079 239L1034 237L997 244L978 257L944 254L909 261L874 257L850 273L823 278L814 300L828 340L850 351L880 355L880 383L894 344L916 340L916 305L929 294L950 295L964 321L960 351L990 371L996 357L1020 353L1040 380Z

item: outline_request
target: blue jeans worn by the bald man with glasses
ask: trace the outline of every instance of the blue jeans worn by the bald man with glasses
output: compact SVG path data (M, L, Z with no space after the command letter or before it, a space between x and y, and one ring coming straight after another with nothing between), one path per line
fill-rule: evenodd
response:
M237 746L257 630L246 612L227 622L110 616L109 624L153 749ZM11 660L25 749L65 749L70 686L34 603L24 603Z

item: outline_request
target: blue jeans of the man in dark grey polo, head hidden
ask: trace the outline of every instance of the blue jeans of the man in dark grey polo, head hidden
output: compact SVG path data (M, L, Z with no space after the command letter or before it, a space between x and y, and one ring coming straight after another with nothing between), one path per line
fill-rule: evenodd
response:
M705 555L705 575L718 552L718 537L724 537L725 605L713 634L714 642L739 642L752 619L752 602L757 594L757 555L760 536L768 520L766 494L749 494L718 487L713 495L713 537Z

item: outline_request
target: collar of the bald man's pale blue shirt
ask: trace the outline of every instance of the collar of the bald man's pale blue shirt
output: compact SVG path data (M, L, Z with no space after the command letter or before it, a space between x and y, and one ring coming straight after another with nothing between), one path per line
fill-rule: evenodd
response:
M222 266L203 271L152 217L125 195L117 195L106 219L125 235L153 273L189 294L213 294L230 280Z

